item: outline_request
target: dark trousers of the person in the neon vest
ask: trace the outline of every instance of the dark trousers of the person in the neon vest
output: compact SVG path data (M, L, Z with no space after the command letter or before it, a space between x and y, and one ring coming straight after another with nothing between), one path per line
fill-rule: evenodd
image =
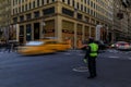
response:
M96 76L96 57L88 57L88 72L90 76Z

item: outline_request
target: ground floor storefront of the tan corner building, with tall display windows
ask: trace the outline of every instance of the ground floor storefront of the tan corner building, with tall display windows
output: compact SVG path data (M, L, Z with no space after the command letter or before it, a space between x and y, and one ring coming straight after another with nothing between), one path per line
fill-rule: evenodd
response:
M17 37L20 44L44 37L57 37L61 41L70 41L72 48L81 48L84 40L96 37L96 25L56 15L20 23ZM109 30L105 28L100 30L102 40L111 41L111 37Z

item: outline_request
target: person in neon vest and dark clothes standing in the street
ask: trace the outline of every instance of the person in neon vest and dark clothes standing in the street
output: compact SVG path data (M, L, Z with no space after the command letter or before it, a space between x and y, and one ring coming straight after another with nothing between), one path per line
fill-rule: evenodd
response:
M86 54L84 57L84 62L87 63L90 76L87 78L94 78L96 74L96 58L98 55L98 45L95 44L93 38L88 39L88 45L86 49Z

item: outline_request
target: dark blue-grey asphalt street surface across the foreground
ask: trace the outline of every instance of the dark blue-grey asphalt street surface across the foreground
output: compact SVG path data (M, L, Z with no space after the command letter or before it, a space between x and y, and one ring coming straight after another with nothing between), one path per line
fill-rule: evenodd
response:
M0 87L131 87L131 51L106 50L97 58L97 74L88 79L79 50L35 57L0 52Z

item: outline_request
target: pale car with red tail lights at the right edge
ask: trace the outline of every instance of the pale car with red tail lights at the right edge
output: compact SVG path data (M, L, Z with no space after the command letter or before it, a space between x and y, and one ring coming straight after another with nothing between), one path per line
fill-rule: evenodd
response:
M131 44L127 41L117 41L111 45L111 48L115 48L118 50L131 50Z

